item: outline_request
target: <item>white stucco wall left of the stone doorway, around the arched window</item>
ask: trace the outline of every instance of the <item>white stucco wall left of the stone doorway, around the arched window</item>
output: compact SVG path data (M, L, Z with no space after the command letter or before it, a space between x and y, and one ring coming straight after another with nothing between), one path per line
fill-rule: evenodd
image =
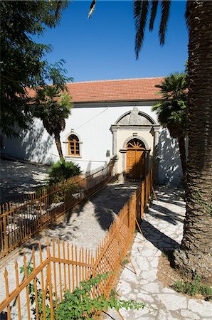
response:
M79 159L74 157L67 157L67 159L77 161L85 171L88 167L95 169L105 164L107 150L110 150L110 156L112 156L110 126L124 112L132 110L134 105L112 104L110 107L107 104L75 105L70 117L66 120L65 130L60 134L64 156L68 152L67 144L63 142L67 140L70 130L74 129L83 142L81 156ZM140 106L139 110L149 113L151 106ZM156 118L155 115L153 117ZM39 119L34 119L31 130L24 132L21 139L4 138L4 144L4 153L11 156L43 163L51 163L59 159L54 139L49 136Z

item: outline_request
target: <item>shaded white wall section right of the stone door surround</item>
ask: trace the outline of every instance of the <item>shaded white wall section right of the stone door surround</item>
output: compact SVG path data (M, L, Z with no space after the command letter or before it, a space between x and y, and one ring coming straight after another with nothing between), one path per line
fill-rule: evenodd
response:
M183 174L179 146L177 140L170 137L167 129L162 129L159 134L157 159L159 184L181 185Z

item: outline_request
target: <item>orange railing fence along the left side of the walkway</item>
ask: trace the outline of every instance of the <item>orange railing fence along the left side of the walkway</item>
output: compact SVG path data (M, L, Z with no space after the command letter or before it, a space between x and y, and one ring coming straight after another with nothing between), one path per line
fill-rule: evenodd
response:
M110 181L113 166L112 162L88 176L75 176L2 205L0 260Z

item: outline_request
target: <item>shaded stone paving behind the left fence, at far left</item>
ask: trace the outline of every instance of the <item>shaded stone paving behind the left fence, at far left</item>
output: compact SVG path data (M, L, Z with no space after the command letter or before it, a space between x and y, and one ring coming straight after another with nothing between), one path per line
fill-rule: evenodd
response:
M48 178L49 166L30 161L6 160L0 162L1 203L16 201L24 193L34 191Z

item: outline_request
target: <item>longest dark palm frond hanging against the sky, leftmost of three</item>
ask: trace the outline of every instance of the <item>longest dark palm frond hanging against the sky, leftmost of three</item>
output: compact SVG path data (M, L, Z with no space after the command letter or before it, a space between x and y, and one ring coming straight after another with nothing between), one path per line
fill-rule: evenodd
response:
M149 0L134 1L134 22L136 29L135 36L135 54L139 58L139 52L144 42L144 30L147 23L147 14L149 10Z

